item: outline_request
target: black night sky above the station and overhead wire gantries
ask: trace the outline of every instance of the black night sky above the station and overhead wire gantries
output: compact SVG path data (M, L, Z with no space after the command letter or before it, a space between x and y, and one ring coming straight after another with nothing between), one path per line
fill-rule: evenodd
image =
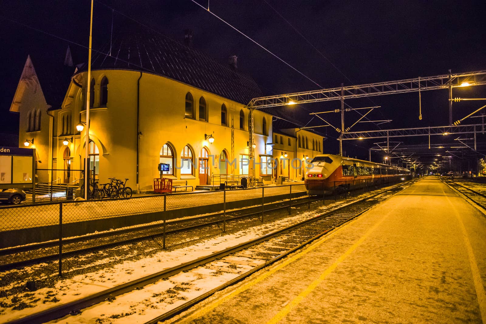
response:
M197 2L208 6L207 0ZM86 48L76 44L85 47L88 44L89 3L87 0L2 3L1 133L17 133L17 116L9 113L9 108L28 54L36 65L36 60L62 57L70 44L75 57L87 60ZM116 34L136 31L142 28L139 24L142 23L181 42L183 30L191 29L194 49L222 64L227 64L228 55L237 55L238 69L251 75L264 94L282 94L336 87L341 83L351 85L434 76L447 74L448 69L457 73L485 70L485 8L484 0L209 1L212 13L313 82L191 0L95 1L93 49L100 49L109 42L112 26ZM454 89L453 96L484 97L486 91L482 88ZM355 108L381 105L380 110L370 114L370 119L393 119L391 123L380 125L384 129L445 126L448 124L447 98L447 90L423 92L421 121L418 120L417 93L348 100L347 104ZM454 107L454 120L482 105L461 103L457 109ZM289 117L305 125L312 118L308 113L339 107L339 101L330 101L283 109ZM327 117L340 126L338 114ZM356 113L347 114L346 126L358 117ZM314 119L309 125L320 123ZM358 124L353 130L377 128L366 123ZM330 138L325 145L335 153L336 141L332 138L338 134L330 128L320 130ZM413 141L419 143L424 139ZM346 149L349 155L367 158L367 148L372 144L346 143Z

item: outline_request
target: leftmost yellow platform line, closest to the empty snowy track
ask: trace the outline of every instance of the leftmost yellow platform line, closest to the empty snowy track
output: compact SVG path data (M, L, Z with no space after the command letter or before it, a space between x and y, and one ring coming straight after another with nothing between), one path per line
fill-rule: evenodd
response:
M235 297L236 295L238 295L238 294L240 294L240 293L242 293L242 292L250 289L251 287L253 287L257 283L259 283L260 281L262 281L265 278L269 277L270 275L273 275L274 273L276 273L278 270L286 267L287 265L289 265L290 263L294 262L295 260L300 259L301 257L303 257L307 253L311 252L316 247L319 247L322 243L324 243L327 240L329 240L331 237L333 237L334 235L336 235L339 231L341 231L343 228L347 227L348 225L352 224L353 222L354 222L354 220L351 221L351 222L346 223L345 225L343 225L343 226L341 226L341 227L339 227L339 228L337 228L335 230L333 230L329 235L326 235L325 237L319 239L315 243L312 243L309 247L305 248L300 253L295 254L293 257L291 257L289 259L284 260L281 264L279 264L278 266L275 266L275 267L271 268L269 271L267 271L263 275L259 275L255 279L253 279L250 282L248 282L248 283L246 283L246 284L238 287L234 291L229 292L228 294L226 294L226 295L218 298L217 300L215 300L214 302L210 303L209 305L204 306L203 308L201 308L199 310L196 310L194 313L190 314L188 317L181 319L181 323L189 323L192 320L196 320L196 319L204 316L205 314L207 314L208 312L210 312L214 308L217 308L221 304L225 303L229 299L231 299L231 298Z

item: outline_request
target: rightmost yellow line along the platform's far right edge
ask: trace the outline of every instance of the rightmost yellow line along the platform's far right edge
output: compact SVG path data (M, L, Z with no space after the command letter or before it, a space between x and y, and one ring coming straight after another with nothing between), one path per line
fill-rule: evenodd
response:
M444 193L445 194L445 193ZM449 204L451 204L454 214L461 228L462 236L464 238L464 245L466 245L466 250L468 251L469 265L471 267L472 280L474 282L474 289L476 290L476 296L478 298L479 311L481 313L481 320L483 324L486 324L486 293L483 285L483 279L481 279L481 273L479 272L478 263L476 262L476 257L474 256L474 250L472 249L471 242L469 241L468 232L464 223L462 222L459 211L455 208L451 199L446 195Z

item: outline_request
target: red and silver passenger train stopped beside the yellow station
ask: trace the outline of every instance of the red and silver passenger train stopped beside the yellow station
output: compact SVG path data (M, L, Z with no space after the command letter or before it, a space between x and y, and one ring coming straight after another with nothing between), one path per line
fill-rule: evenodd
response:
M307 168L305 186L309 194L344 192L411 177L405 168L333 154L315 156Z

